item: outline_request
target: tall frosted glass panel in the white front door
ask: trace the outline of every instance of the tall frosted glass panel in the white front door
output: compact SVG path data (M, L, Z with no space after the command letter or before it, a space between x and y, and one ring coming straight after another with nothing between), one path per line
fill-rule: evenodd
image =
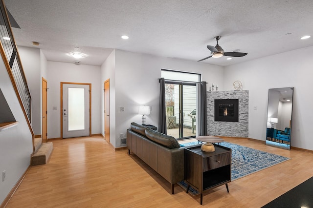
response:
M85 89L68 88L68 131L85 129Z

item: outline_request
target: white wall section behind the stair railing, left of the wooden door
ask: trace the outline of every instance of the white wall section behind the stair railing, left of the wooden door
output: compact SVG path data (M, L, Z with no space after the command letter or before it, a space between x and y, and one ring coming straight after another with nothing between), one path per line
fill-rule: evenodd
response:
M34 134L41 135L41 51L22 46L18 50L32 98L31 125Z

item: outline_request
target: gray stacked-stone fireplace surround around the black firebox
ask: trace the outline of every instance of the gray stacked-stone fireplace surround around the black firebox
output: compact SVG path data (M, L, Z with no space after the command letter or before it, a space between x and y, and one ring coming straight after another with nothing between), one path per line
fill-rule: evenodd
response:
M214 100L238 99L238 122L214 121ZM248 137L249 91L207 91L206 92L206 128L207 135L225 137Z

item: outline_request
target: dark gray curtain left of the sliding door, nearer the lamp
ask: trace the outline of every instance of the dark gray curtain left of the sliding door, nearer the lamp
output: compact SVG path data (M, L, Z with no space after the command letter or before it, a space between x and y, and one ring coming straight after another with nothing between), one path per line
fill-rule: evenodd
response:
M160 105L158 109L158 132L166 134L166 109L165 109L165 80L164 78L159 79L160 81Z

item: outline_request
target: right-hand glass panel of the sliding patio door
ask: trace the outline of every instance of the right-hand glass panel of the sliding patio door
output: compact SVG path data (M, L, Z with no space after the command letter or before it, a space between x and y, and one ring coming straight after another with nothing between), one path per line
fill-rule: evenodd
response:
M196 93L196 86L182 86L183 137L196 136Z

